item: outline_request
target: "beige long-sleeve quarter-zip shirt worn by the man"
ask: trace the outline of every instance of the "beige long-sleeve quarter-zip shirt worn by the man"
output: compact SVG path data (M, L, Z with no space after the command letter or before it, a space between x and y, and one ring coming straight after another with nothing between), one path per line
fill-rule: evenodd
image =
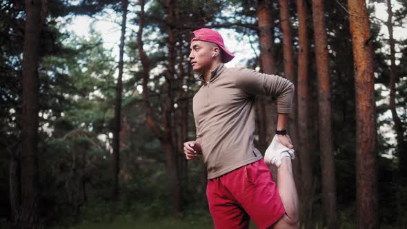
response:
M288 114L294 85L276 75L226 68L224 63L210 74L210 81L194 96L193 111L208 179L214 179L262 158L253 143L255 96L276 96L277 112Z

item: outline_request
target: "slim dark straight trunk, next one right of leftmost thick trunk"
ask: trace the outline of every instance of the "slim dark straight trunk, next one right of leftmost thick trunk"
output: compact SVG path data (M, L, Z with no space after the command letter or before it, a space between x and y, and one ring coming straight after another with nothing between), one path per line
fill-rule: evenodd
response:
M123 54L124 40L126 38L126 19L127 19L128 0L121 1L121 37L119 46L119 76L117 77L116 85L116 107L115 107L115 126L113 130L113 158L112 158L112 173L113 186L111 196L110 215L116 215L117 199L119 197L119 170L120 170L120 130L121 130L121 78L123 77Z

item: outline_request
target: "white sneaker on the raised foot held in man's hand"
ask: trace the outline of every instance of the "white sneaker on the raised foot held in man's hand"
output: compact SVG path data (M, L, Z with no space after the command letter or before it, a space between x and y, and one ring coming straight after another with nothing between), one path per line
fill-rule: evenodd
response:
M281 158L290 157L294 159L294 150L290 150L287 146L284 146L279 142L277 135L272 139L270 146L268 146L266 152L264 153L264 163L267 166L281 166Z

